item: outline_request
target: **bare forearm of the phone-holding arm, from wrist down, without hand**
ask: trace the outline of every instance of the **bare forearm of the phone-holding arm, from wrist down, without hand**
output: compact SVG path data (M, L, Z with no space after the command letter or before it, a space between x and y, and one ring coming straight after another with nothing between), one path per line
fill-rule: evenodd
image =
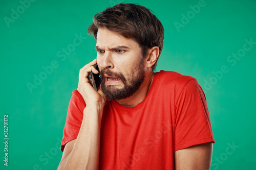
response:
M102 107L87 106L74 147L59 169L98 169Z

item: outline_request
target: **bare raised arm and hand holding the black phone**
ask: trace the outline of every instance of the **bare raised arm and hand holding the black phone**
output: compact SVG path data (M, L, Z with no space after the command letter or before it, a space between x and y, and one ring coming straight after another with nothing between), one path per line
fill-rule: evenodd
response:
M93 67L96 63L94 60L80 69L77 90L86 108L77 138L66 144L58 169L98 169L100 125L106 98L101 90L96 91L89 84L90 72L98 73Z

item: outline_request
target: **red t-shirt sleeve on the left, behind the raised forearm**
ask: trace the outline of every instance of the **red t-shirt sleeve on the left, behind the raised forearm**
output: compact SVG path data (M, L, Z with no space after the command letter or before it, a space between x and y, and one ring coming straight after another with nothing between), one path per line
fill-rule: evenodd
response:
M62 152L69 141L77 138L82 124L83 110L85 107L86 103L84 102L81 94L77 90L74 90L69 102L66 124L61 141L60 149Z

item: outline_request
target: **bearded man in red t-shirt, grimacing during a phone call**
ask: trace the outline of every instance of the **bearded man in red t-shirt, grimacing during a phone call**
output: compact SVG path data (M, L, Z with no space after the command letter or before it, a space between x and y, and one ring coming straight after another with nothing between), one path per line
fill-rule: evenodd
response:
M209 169L215 140L205 95L193 77L154 72L164 38L156 16L118 4L96 14L88 32L97 59L80 69L58 169ZM101 75L98 91L91 71Z

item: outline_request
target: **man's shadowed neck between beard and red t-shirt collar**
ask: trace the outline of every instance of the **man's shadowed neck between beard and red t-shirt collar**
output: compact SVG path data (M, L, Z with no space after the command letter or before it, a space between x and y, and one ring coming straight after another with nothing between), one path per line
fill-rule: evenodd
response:
M140 88L129 98L117 100L117 102L125 107L135 107L139 103L141 103L147 95L148 90L152 85L154 79L155 72L153 71L151 74L148 74L145 77L144 82L141 84Z

